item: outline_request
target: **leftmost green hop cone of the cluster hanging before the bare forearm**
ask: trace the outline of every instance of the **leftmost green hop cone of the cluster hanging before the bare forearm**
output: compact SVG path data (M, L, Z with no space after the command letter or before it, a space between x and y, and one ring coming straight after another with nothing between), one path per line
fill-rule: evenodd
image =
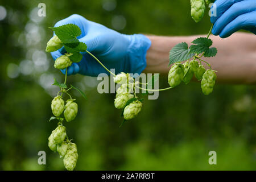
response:
M181 83L184 77L184 66L181 63L172 65L169 74L168 82L171 87L175 87Z

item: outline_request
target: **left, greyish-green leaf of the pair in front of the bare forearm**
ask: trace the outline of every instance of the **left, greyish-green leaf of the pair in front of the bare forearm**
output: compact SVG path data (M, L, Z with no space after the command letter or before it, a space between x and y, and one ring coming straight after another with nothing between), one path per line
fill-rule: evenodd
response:
M183 43L177 44L170 51L169 66L171 64L174 64L174 63L177 63L180 61L185 61L185 60L191 59L191 57L193 57L193 56L195 56L195 54L189 53L187 43L183 42Z

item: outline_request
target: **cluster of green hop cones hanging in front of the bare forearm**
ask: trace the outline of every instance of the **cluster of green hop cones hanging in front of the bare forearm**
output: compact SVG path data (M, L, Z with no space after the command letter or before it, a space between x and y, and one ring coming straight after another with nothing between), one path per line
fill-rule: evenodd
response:
M168 74L169 85L174 88L182 81L188 84L193 75L197 80L201 80L201 89L205 95L209 95L213 91L213 87L216 81L216 71L212 69L205 70L204 65L200 64L196 60L186 61L184 64L176 63L172 65Z

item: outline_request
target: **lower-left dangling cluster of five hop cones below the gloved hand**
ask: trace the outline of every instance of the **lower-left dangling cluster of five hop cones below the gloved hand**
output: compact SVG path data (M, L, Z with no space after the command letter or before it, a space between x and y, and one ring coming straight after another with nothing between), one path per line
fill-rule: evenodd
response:
M78 106L75 100L67 100L67 104L64 105L64 101L61 96L56 96L52 100L51 108L52 113L56 117L59 117L64 113L65 120L67 122L76 118ZM63 112L64 111L64 112ZM61 119L60 119L61 120ZM60 158L63 158L63 163L66 169L73 170L76 167L78 159L77 147L75 143L67 138L66 128L62 125L62 121L59 122L57 128L52 131L49 136L48 146L54 152L59 152ZM66 139L66 140L65 140Z

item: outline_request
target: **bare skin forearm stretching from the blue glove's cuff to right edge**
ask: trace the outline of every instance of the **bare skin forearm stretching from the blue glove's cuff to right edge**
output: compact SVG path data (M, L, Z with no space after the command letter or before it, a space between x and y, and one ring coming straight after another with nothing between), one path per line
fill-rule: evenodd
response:
M168 73L169 51L181 42L191 43L199 36L147 36L151 47L147 51L147 67L144 72ZM210 36L218 49L216 57L207 58L217 72L218 82L236 84L256 83L256 36L236 33L230 38Z

